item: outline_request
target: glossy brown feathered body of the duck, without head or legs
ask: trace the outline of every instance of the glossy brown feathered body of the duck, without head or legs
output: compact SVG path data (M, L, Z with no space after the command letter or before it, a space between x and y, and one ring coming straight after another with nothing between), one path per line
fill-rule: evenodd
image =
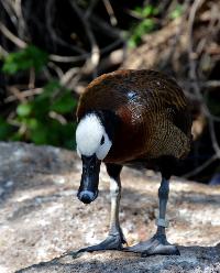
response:
M191 119L180 87L153 70L117 70L86 88L77 118L110 110L121 120L105 162L125 163L161 156L184 159L190 150Z

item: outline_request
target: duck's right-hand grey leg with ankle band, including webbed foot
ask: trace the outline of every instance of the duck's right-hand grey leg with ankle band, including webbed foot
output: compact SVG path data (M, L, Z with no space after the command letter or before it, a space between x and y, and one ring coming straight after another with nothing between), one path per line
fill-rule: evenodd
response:
M160 216L156 220L157 230L156 233L147 241L140 242L133 247L127 248L127 251L140 252L142 256L153 255L153 254L165 254L165 255L175 255L179 254L178 249L170 244L166 240L165 228L168 227L168 222L165 220L166 215L166 205L168 200L169 193L169 181L162 178L161 187L158 189L158 199L160 199Z

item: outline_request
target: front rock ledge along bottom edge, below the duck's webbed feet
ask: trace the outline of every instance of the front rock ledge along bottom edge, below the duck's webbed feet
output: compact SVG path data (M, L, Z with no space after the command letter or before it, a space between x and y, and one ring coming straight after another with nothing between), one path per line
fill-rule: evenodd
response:
M182 273L182 272L220 272L220 249L180 247L180 256L140 258L118 251L106 253L86 253L73 260L70 255L51 262L33 265L18 273L82 273L82 272L123 272L123 273Z

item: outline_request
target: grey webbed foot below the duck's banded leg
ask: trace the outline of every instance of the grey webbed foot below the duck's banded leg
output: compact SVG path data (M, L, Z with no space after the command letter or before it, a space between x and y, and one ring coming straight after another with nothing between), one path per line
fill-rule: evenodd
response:
M125 248L124 251L142 253L142 256L147 255L180 255L176 245L170 244L164 234L155 234L152 239L140 242L133 247Z

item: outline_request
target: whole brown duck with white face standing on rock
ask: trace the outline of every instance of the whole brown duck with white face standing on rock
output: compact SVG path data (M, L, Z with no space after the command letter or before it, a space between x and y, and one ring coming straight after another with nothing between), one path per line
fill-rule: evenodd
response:
M77 197L84 204L98 197L101 163L110 177L111 197L108 237L78 253L123 250L143 256L179 254L178 248L166 238L166 207L170 176L188 155L193 138L189 101L176 80L147 69L103 74L86 87L76 116L76 146L82 163ZM155 234L131 247L119 219L120 174L124 165L141 165L162 176Z

